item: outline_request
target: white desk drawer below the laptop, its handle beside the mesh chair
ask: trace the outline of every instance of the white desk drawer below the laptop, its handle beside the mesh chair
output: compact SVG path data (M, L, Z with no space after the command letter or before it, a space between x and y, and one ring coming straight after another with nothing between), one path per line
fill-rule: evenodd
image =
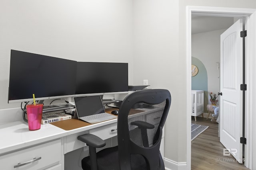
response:
M117 123L91 129L89 133L106 140L117 135Z

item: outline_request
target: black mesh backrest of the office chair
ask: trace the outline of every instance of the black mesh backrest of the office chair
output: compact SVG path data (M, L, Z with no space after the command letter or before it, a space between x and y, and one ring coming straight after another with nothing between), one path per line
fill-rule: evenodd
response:
M141 90L124 99L117 125L121 170L131 169L133 155L144 158L147 170L164 169L159 149L170 104L170 92L164 89Z

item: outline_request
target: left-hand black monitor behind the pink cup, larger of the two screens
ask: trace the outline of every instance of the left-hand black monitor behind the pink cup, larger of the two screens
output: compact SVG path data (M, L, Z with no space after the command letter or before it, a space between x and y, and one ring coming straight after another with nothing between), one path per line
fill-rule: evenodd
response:
M11 50L8 102L75 94L76 61ZM18 101L17 101L18 100Z

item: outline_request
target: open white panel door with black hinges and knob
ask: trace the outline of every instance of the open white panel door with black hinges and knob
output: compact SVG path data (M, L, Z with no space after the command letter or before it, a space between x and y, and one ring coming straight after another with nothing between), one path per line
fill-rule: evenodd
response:
M220 35L220 142L242 163L242 20ZM226 150L225 150L226 153Z

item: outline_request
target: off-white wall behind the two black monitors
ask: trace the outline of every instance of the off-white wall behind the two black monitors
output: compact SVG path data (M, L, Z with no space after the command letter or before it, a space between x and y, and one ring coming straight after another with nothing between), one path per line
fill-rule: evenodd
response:
M7 104L10 49L75 61L128 63L132 84L132 2L1 0L0 109L20 107Z

